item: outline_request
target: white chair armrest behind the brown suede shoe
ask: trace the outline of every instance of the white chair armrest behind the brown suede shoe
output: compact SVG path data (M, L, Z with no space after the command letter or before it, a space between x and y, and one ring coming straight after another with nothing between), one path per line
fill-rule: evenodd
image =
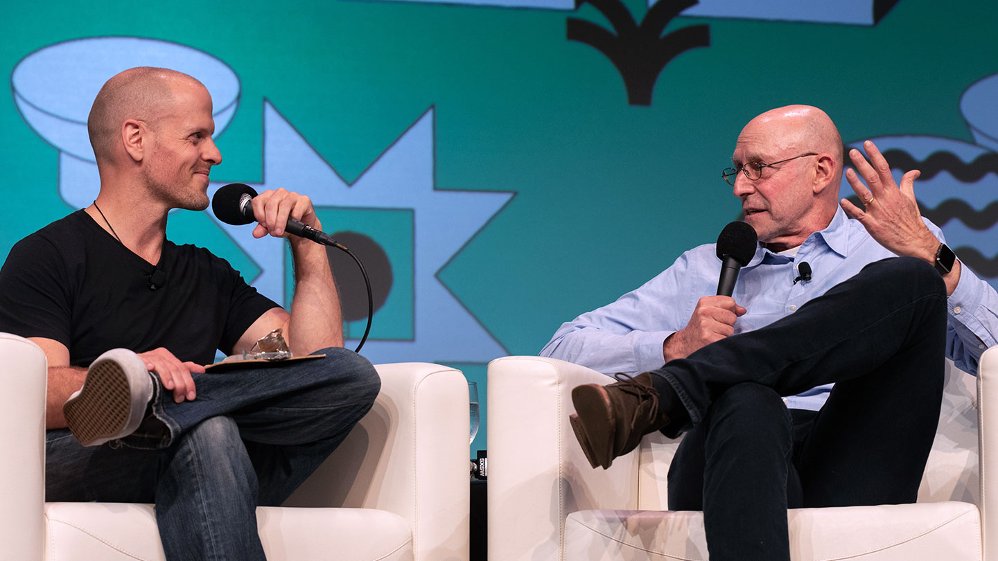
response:
M488 557L561 560L565 518L594 508L634 509L638 451L610 469L589 466L568 416L572 388L610 383L585 366L507 356L488 367Z

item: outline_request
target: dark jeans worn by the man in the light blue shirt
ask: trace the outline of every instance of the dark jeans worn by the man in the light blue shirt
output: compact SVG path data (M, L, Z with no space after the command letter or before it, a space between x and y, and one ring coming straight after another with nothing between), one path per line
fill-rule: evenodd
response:
M669 507L713 561L789 560L787 507L914 502L942 401L946 292L910 258L864 268L766 327L655 373L692 419ZM835 382L817 413L780 396ZM668 384L662 385L662 384Z

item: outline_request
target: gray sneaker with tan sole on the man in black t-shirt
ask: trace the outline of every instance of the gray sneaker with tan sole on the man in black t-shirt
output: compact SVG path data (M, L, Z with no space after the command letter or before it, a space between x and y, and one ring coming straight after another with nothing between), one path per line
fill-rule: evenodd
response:
M127 348L101 354L87 379L63 405L66 424L84 446L98 446L135 432L153 399L146 362Z

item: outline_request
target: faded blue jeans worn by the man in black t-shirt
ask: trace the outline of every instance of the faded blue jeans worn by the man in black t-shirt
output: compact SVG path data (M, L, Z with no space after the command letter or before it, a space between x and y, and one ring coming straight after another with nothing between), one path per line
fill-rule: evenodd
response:
M195 401L157 381L155 418L84 447L46 435L47 501L155 502L170 561L262 560L257 505L279 505L342 442L381 387L344 348L280 366L194 374Z

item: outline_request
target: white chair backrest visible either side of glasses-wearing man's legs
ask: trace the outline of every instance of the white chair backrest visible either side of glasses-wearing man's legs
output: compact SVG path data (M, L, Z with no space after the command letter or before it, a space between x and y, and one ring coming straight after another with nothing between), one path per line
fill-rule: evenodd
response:
M666 510L666 475L679 439L646 436L638 462L638 508ZM946 360L939 427L918 489L918 502L962 501L980 506L977 387L974 376Z

